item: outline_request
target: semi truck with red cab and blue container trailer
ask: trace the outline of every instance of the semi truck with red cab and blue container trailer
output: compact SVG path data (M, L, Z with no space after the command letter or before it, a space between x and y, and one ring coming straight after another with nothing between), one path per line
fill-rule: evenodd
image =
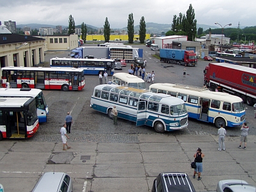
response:
M185 66L196 66L197 57L193 50L160 49L160 61Z

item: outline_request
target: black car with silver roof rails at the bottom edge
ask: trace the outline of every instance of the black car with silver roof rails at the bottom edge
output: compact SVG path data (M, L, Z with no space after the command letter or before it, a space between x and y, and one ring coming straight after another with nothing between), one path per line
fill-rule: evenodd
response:
M185 172L161 172L158 174L152 187L152 192L157 191L196 192Z

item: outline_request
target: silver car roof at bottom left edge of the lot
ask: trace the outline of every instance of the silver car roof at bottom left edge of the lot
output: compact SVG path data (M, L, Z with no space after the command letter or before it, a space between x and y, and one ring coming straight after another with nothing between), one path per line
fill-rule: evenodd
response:
M72 180L65 172L45 172L32 192L73 191Z

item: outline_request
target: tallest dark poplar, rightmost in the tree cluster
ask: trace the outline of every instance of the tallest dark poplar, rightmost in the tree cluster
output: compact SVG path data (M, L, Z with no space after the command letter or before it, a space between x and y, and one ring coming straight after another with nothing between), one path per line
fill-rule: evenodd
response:
M195 13L192 5L188 7L187 13L186 13L186 21L185 21L185 32L188 35L188 41L194 41L193 38L196 37L196 20Z

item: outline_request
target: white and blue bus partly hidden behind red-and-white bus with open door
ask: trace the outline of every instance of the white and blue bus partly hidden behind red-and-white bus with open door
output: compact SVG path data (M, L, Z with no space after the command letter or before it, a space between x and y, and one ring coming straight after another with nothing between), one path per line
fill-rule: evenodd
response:
M49 108L43 96L43 91L34 88L0 88L0 98L35 98L39 123L47 122Z

